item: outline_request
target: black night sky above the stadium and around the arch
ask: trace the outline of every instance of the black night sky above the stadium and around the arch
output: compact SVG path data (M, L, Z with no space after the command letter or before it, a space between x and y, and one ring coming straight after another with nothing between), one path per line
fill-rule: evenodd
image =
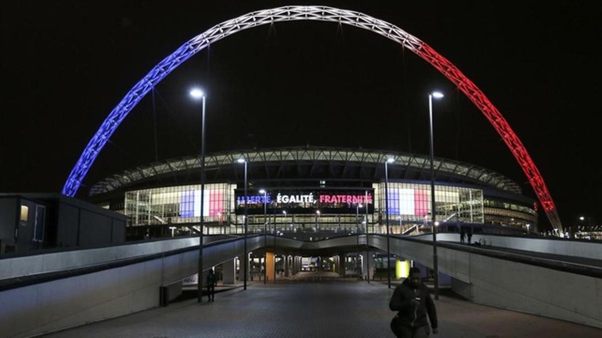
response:
M194 35L253 10L320 4L391 22L452 61L523 141L563 223L602 221L599 1L207 3L2 1L0 192L60 191L111 109ZM426 61L371 32L307 21L239 32L182 64L154 104L147 95L123 121L79 197L155 161L155 119L158 159L199 152L193 85L208 94L208 152L309 144L427 154L427 93L438 89L435 156L498 171L535 197L483 114Z

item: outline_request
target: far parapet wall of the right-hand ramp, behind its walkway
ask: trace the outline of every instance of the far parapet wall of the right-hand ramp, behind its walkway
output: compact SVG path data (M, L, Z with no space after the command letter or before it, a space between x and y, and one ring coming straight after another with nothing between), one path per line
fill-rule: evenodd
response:
M412 238L431 241L433 235L418 235ZM566 239L543 239L514 236L473 235L472 241L483 239L487 245L512 248L517 250L536 251L539 253L560 254L592 259L602 259L602 244L587 241L571 241ZM438 233L437 241L460 242L459 233Z

